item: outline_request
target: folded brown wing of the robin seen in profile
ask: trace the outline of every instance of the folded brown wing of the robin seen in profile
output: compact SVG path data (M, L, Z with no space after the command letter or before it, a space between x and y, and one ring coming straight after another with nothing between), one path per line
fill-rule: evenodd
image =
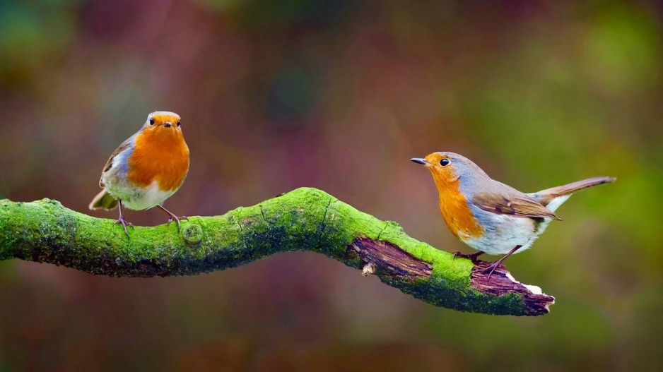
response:
M526 195L504 196L500 193L479 193L474 196L472 203L477 207L498 215L513 215L517 217L552 218L560 217L536 200Z

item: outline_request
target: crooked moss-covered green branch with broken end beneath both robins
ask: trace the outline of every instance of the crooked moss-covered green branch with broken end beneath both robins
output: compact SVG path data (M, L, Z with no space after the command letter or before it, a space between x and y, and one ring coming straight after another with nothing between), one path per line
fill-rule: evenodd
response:
M53 263L95 275L153 277L224 270L278 252L313 251L436 306L488 314L548 313L554 298L499 268L439 251L315 188L298 188L216 217L136 227L64 208L54 200L0 200L0 260Z

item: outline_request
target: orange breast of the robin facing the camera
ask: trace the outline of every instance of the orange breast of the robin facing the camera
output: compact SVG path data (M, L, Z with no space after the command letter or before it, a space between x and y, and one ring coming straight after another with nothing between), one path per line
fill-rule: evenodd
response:
M157 182L161 191L174 191L189 172L189 148L176 128L145 128L136 137L127 178L137 186Z

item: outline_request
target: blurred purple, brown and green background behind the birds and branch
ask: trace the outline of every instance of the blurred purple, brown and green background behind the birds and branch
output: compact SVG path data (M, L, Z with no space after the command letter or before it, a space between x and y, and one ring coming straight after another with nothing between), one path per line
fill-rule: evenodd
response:
M517 279L539 318L458 313L313 253L194 277L0 263L0 371L661 371L663 39L647 1L0 1L0 190L90 212L149 112L182 116L166 206L313 186L445 251L430 174L460 152L558 210ZM161 224L158 211L127 212Z

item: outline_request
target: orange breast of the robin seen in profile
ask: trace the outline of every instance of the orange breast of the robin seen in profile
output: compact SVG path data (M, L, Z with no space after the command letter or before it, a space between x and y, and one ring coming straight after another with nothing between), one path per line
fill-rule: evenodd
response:
M438 189L440 191L440 212L452 234L459 239L481 236L483 227L472 215L472 211L467 205L467 199L460 192L459 181L451 181Z

